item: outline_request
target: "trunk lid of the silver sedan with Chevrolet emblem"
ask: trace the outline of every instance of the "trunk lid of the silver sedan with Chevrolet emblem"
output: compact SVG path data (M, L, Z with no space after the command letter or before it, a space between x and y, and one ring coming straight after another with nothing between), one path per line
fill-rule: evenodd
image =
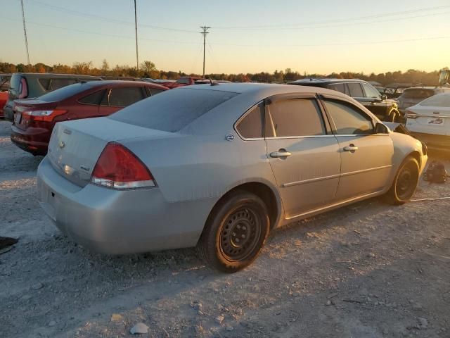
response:
M171 134L110 118L61 122L53 128L48 156L60 175L84 187L90 182L96 162L109 142L141 137L161 138Z

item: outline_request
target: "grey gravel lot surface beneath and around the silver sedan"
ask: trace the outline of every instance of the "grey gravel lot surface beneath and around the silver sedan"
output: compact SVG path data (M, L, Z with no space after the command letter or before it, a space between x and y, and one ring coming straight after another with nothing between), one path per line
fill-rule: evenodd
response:
M0 337L450 337L450 200L372 199L276 230L234 275L195 250L101 256L41 212L0 122ZM446 161L450 168L450 163ZM421 181L415 198L450 196Z

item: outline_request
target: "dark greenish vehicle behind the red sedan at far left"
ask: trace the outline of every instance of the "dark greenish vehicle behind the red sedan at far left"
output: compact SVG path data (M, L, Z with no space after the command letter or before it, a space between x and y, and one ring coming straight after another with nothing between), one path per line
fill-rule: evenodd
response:
M6 120L14 120L14 100L35 98L53 90L81 81L101 80L100 77L75 74L14 73L4 107Z

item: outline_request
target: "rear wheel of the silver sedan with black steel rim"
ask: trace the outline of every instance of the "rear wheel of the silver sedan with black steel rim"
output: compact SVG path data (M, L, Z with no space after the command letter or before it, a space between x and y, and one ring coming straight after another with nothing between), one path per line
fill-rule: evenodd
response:
M198 251L212 268L236 273L255 261L269 230L269 213L264 201L249 192L234 192L212 210Z

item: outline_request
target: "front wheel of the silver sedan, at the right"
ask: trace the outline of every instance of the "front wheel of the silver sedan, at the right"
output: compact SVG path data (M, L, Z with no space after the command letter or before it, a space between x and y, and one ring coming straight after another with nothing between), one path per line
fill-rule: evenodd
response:
M387 202L394 205L408 202L416 192L419 172L419 163L416 158L412 156L405 158L394 177L392 186L385 195Z

